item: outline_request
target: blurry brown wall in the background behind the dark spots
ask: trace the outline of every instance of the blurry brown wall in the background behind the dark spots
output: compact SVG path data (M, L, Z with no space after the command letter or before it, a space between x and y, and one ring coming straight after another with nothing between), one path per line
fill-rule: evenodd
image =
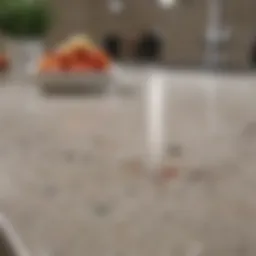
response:
M121 1L121 0L120 0ZM122 59L132 59L132 42L156 29L162 38L161 61L200 65L206 48L209 0L176 0L162 7L158 0L122 0L123 9L111 10L110 0L52 0L54 24L48 45L71 33L87 33L102 43L109 34L122 38ZM222 25L226 41L220 51L228 65L247 67L255 39L255 0L223 0Z

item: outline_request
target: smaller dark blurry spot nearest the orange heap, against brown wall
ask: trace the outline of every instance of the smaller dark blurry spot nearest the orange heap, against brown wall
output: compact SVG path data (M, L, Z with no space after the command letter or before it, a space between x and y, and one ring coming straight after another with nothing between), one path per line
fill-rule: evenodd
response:
M105 51L113 58L113 59L121 59L122 57L122 48L123 42L121 37L118 35L107 35L103 40L103 47Z

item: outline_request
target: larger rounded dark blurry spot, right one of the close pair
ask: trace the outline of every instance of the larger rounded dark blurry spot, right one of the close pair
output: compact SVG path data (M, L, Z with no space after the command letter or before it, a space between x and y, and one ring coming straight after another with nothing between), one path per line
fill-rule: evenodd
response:
M162 39L155 32L141 35L136 47L136 59L139 61L159 61L162 51Z

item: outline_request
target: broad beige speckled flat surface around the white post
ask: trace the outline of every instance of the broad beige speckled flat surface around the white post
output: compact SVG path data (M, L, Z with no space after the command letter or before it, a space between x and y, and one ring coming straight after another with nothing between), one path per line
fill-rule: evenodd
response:
M32 255L255 256L256 78L125 74L137 95L0 88L0 210ZM161 179L144 168L152 75L164 83Z

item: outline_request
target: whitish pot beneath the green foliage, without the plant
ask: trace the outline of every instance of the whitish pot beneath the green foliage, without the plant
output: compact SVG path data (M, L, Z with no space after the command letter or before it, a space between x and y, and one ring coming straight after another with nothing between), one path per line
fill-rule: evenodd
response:
M11 60L12 77L21 78L37 74L39 58L43 52L41 40L9 40L7 52Z

